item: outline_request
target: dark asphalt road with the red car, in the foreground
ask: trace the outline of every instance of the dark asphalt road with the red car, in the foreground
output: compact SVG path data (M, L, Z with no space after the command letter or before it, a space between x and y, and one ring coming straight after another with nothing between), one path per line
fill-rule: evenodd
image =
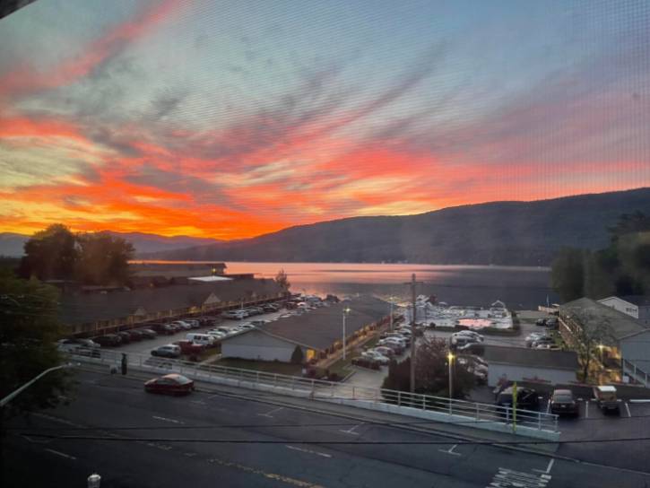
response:
M246 390L233 396L212 386L167 397L144 393L140 379L80 371L78 381L69 405L9 423L3 486L84 486L93 471L102 488L636 488L650 482L650 475L273 405Z

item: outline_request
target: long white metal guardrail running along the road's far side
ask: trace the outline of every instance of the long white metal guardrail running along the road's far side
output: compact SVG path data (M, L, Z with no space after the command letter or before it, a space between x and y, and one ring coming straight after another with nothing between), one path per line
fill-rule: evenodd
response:
M119 369L125 353L78 348L70 353L85 362L108 364ZM557 440L558 415L532 410L456 400L445 396L412 394L385 388L366 388L323 379L308 379L257 370L126 353L128 367L179 373L193 379L226 383L242 388L303 396L313 400L352 405L371 410L406 414L437 422L464 424L492 431L507 431Z

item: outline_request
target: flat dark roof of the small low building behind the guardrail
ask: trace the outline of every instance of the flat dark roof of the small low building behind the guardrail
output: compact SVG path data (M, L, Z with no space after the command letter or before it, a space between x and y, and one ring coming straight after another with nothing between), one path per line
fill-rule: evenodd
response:
M577 370L577 354L573 351L545 351L527 347L486 345L485 361L489 364L510 364L545 370Z

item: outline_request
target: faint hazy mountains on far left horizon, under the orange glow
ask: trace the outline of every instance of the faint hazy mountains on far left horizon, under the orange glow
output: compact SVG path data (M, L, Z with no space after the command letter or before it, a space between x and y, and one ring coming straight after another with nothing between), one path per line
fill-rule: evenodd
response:
M170 251L191 246L200 246L220 242L214 239L202 239L188 236L165 237L142 232L113 232L111 234L128 240L134 245L136 257L153 252ZM30 236L13 232L0 233L0 256L22 256L22 246Z

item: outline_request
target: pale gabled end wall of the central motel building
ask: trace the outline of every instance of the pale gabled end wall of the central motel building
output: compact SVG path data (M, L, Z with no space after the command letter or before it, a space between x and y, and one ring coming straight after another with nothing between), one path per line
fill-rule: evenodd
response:
M256 330L230 337L221 343L224 358L290 362L296 344L282 341ZM303 353L306 351L303 350Z

